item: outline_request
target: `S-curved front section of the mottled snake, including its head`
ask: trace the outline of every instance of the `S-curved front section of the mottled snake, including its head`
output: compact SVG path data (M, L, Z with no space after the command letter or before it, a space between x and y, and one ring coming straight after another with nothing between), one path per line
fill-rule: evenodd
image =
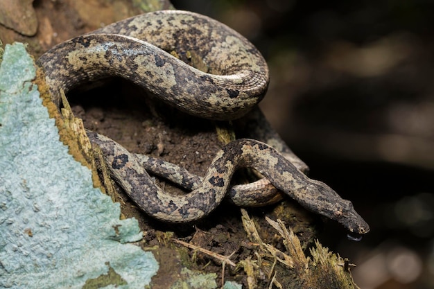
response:
M250 167L257 169L277 189L306 209L340 222L351 232L365 234L369 231L369 225L356 213L351 202L340 198L327 184L306 177L277 150L261 141L237 139L230 142L217 152L204 177L193 176L198 182L190 188L193 191L186 195L168 195L141 166L140 156L96 132L87 132L87 136L103 151L116 182L142 210L159 220L191 222L207 216L227 194L235 170ZM128 165L119 166L119 156L128 158ZM241 203L243 199L248 202L251 198L248 192L244 193L243 198L238 200L239 205L245 205Z

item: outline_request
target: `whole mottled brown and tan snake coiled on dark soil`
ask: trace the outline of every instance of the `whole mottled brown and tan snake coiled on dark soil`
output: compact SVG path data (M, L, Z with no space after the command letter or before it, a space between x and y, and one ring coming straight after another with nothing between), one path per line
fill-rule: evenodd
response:
M193 58L202 60L201 69L190 65ZM148 12L75 37L44 53L37 64L44 70L59 110L61 91L67 93L85 82L117 76L192 116L250 122L255 117L252 114L258 114L257 104L269 83L266 60L245 37L214 19L181 10ZM267 124L259 127L268 130ZM249 167L265 177L261 184L274 186L306 209L336 220L351 233L370 230L349 200L340 198L327 184L307 177L302 172L304 163L299 161L297 168L290 161L297 158L281 144L283 141L276 141L274 132L266 132L267 136L267 143L248 138L230 141L216 152L205 175L196 177L162 160L144 160L116 141L87 131L92 144L101 148L112 177L153 218L193 222L208 216L226 195L239 205L261 203L261 196L257 196L261 190L248 195L252 189L249 186L245 190L231 187L235 170ZM273 145L280 146L279 150ZM148 170L162 168L160 174L164 177L171 175L171 169L175 172L172 175L184 175L173 181L184 182L191 191L184 195L166 193L155 184L144 163ZM240 196L238 191L244 193ZM275 193L264 203L272 195Z

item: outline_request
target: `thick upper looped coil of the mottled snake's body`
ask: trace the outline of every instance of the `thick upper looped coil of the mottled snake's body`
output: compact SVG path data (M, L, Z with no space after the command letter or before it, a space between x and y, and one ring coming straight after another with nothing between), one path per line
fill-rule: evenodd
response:
M181 60L165 51L177 51ZM192 54L206 72L182 61ZM55 46L39 62L57 105L59 89L119 76L179 110L220 121L252 110L269 82L266 61L248 40L214 19L179 10L116 22Z

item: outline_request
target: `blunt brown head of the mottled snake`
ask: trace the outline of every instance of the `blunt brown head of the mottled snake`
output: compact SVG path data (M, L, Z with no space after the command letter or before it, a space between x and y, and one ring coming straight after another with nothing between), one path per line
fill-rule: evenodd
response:
M336 204L332 219L338 221L351 233L363 235L370 231L370 226L367 225L367 222L356 212L353 204L349 200L341 199L340 202Z

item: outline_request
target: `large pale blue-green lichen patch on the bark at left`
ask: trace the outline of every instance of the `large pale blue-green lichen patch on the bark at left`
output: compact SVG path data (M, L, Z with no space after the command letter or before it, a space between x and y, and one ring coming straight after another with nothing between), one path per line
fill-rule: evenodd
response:
M93 188L37 91L24 44L0 65L0 287L144 288L157 272L137 220Z

